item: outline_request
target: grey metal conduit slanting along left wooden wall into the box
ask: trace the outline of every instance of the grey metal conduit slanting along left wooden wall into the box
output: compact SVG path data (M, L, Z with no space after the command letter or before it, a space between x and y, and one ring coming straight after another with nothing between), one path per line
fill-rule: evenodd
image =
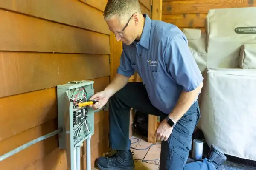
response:
M4 159L6 159L6 158L8 158L8 157L10 157L10 156L12 156L12 155L14 155L15 153L20 152L20 151L23 150L23 149L26 149L27 147L30 147L31 145L33 145L33 144L35 144L35 143L37 143L37 142L40 142L40 141L42 141L42 140L44 140L44 139L47 139L47 138L49 138L49 137L52 137L52 136L54 136L54 135L57 135L58 133L61 133L62 130L63 130L62 128L59 128L58 130L55 130L55 131L53 131L53 132L51 132L51 133L48 133L48 134L46 134L46 135L44 135L44 136L41 136L41 137L39 137L39 138L36 138L36 139L34 139L34 140L32 140L32 141L26 143L26 144L23 144L23 145L21 145L20 147L17 147L16 149L11 150L10 152L8 152L8 153L6 153L6 154L0 156L0 161L3 161Z

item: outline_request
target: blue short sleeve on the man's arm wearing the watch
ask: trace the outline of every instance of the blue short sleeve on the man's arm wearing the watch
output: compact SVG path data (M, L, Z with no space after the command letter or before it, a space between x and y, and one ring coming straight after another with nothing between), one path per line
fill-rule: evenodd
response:
M185 35L178 34L170 40L164 54L166 67L172 78L183 87L193 91L203 81L203 76L192 56Z

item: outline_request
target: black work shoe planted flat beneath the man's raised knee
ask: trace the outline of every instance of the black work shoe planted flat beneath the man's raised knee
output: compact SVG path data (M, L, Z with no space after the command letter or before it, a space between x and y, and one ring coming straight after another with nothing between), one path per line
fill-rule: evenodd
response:
M133 170L134 160L131 150L117 150L110 157L100 157L97 162L100 170Z

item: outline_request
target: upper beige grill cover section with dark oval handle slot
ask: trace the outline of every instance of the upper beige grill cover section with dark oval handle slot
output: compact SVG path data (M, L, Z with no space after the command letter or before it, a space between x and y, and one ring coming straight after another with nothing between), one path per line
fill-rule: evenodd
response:
M256 43L255 16L256 7L209 10L207 68L239 67L241 45Z

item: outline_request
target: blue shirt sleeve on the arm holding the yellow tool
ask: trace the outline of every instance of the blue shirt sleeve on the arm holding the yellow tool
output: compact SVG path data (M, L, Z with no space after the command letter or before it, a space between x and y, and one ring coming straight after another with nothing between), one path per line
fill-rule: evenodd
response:
M134 74L134 68L131 66L131 60L125 54L124 49L120 57L120 65L117 68L117 73L127 77L131 77Z

